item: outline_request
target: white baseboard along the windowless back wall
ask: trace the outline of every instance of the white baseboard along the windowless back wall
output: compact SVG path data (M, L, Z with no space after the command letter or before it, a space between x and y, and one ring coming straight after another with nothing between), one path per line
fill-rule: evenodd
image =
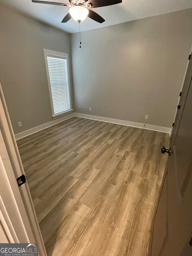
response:
M147 130L152 130L152 131L161 131L161 132L165 132L165 133L169 133L169 134L171 134L171 130L172 130L172 128L168 128L168 127L147 125L147 124L144 126L144 124L141 124L141 123L135 123L135 122L101 117L101 116L91 116L91 115L80 114L80 113L74 113L74 116L108 122L108 123L114 123L114 124L119 124L119 125L127 125L127 126L132 126L132 127L137 127L137 128L142 128L142 129L147 129Z

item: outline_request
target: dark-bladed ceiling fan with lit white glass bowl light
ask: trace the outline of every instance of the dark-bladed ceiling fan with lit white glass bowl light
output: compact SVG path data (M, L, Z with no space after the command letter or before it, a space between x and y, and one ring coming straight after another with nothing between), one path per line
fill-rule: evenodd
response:
M47 4L47 5L61 5L70 7L69 13L64 17L61 23L66 23L71 18L78 21L85 20L86 17L91 18L99 23L103 23L105 20L96 12L90 10L91 8L116 5L122 3L122 0L69 0L70 4L47 2L47 1L36 1L32 0L33 3Z

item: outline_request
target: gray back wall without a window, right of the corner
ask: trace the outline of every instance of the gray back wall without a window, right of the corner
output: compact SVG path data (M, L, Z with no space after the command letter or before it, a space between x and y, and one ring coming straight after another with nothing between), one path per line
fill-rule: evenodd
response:
M76 112L172 126L192 9L82 32L81 49L79 34L70 37Z

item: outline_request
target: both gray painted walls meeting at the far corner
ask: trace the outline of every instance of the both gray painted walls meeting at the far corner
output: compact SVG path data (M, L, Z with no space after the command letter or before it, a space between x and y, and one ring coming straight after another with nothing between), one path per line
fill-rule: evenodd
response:
M52 121L43 48L69 59L72 48L76 112L171 127L191 31L188 9L82 32L80 49L78 33L0 7L0 82L15 134Z

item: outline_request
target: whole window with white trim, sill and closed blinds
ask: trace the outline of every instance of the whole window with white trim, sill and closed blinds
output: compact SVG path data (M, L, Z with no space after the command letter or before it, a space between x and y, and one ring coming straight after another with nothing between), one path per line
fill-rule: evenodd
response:
M57 118L70 113L70 82L68 54L44 49L52 117Z

